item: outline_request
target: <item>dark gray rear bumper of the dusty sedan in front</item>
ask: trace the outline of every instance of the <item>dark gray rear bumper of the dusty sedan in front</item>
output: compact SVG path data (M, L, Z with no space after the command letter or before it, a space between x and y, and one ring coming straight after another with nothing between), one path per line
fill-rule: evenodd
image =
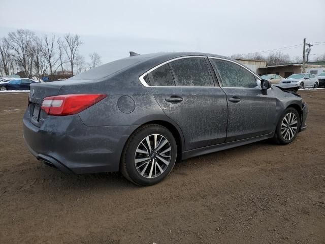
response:
M123 146L137 126L85 126L79 115L49 116L41 127L23 117L25 143L38 160L66 173L119 170Z

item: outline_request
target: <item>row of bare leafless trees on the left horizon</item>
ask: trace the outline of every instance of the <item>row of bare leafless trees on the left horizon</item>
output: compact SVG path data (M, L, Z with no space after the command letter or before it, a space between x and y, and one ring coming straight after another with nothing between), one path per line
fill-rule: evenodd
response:
M96 52L89 54L89 63L85 62L79 53L82 44L80 36L70 33L58 37L37 36L28 29L9 32L0 39L0 75L41 78L58 71L74 75L101 65L101 56Z

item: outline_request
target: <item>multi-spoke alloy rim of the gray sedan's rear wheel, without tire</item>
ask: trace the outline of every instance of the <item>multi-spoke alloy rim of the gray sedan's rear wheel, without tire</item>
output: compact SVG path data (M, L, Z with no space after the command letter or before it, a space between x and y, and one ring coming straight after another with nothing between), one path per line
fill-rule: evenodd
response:
M171 161L172 148L166 137L152 134L137 147L134 163L138 173L145 178L155 178L164 173Z

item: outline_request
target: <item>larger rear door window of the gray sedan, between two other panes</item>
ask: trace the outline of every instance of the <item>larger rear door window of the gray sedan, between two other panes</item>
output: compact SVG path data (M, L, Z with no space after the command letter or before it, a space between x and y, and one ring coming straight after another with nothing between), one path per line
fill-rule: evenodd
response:
M205 58L190 57L170 63L176 86L214 86Z

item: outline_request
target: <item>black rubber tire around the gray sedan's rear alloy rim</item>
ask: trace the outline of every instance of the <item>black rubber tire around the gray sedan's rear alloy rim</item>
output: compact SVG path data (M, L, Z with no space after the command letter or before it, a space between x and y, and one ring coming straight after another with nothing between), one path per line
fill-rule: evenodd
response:
M141 142L143 140L146 139L146 137L149 136L149 138L152 138L152 135L154 134L158 134L159 136L163 136L165 139L167 139L167 144L168 146L170 146L171 150L170 150L170 162L168 165L165 165L162 163L162 161L160 162L160 164L163 164L164 171L158 172L160 174L157 174L157 176L149 178L150 177L150 173L149 175L145 175L145 173L143 175L141 175L141 173L139 172L139 166L138 169L136 168L136 151L138 149L138 147L140 146ZM164 140L165 140L164 139ZM150 141L151 144L151 141ZM146 149L148 151L148 144L146 144ZM158 146L157 146L158 148ZM154 154L154 150L152 150L152 154ZM148 155L144 155L143 157L154 157L155 155L150 154ZM159 154L160 155L160 154ZM159 156L158 155L158 156ZM150 157L151 156L151 157ZM158 157L157 156L157 157ZM177 145L176 145L176 141L175 138L173 136L173 134L166 128L160 125L156 125L156 124L150 124L150 125L145 125L140 127L139 129L137 129L132 135L131 137L129 137L129 139L127 140L124 149L123 149L123 153L122 153L122 157L121 157L121 162L120 162L120 172L123 174L123 176L128 179L129 181L133 182L134 184L138 185L138 186L152 186L157 184L158 182L160 182L161 180L163 180L173 169L175 162L176 162L176 158L177 158ZM152 165L154 165L154 168L156 170L156 165L154 162L156 162L155 160L158 160L156 158L153 158L154 160L151 161L151 159L149 160L149 166L147 168L147 170L149 169L149 171L151 170L151 168L153 167ZM148 160L147 160L148 161ZM144 161L145 162L145 161ZM138 164L139 165L139 164ZM152 167L151 167L152 166ZM141 171L144 169L145 166L143 166L143 168L141 168ZM151 167L151 168L149 168ZM153 170L151 170L152 172ZM159 170L160 171L160 170ZM147 172L145 170L145 172Z

